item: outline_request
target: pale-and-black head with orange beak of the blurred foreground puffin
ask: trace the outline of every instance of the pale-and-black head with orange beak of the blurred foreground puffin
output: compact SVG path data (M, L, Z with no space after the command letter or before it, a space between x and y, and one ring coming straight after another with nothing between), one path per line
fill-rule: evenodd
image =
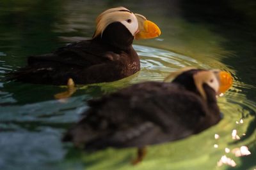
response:
M216 96L225 93L232 86L232 76L226 71L218 69L196 69L186 67L171 73L165 78L165 81L173 79L173 83L180 83L186 89L198 91L206 100L205 86L214 90Z

